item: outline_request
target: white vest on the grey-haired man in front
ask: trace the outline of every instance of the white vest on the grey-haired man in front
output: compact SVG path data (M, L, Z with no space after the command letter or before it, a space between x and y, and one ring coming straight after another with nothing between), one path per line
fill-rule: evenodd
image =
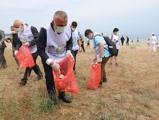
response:
M47 31L46 54L56 62L61 61L66 56L66 43L71 38L70 26L65 27L61 34L54 32L50 24L43 28Z

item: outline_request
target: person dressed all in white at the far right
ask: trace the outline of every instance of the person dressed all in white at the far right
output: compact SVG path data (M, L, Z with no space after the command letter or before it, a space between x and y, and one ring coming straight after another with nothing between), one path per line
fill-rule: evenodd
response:
M157 51L157 37L155 33L152 33L151 37L149 38L149 45L152 52Z

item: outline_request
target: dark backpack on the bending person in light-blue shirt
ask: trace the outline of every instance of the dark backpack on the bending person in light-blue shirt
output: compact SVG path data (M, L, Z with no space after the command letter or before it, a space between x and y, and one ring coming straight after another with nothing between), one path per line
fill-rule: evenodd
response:
M96 36L102 36L100 34L95 35ZM117 48L115 43L110 40L110 38L108 36L102 36L106 42L106 44L108 45L108 51L110 52L111 56L115 56L117 54ZM106 49L106 48L105 48Z

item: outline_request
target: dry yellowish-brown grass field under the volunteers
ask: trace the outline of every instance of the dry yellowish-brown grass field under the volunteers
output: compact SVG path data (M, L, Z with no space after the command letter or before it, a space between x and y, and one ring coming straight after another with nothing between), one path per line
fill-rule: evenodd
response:
M73 103L51 106L44 80L34 81L32 74L25 87L18 86L23 70L16 70L7 50L9 67L0 71L0 120L159 120L159 52L149 52L145 44L122 47L120 66L108 65L109 81L96 91L86 89L93 56L91 49L78 55L80 93L71 96Z

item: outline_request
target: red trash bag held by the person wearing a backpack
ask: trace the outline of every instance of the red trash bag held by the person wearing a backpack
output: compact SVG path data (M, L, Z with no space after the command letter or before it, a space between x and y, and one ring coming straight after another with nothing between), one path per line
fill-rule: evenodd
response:
M95 90L99 87L101 81L101 64L92 64L90 67L90 76L87 81L87 88Z

